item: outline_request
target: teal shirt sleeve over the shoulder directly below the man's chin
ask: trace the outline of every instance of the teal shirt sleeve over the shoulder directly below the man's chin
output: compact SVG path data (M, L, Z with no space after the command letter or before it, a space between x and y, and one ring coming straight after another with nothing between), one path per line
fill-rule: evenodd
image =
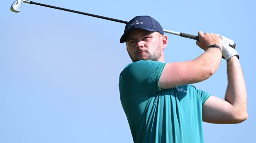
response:
M136 94L150 95L161 91L158 86L165 63L141 60L127 65L121 73L121 78Z

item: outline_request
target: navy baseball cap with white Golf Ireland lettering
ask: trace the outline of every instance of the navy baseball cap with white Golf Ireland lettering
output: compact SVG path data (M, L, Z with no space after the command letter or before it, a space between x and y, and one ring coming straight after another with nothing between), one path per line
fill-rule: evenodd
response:
M120 43L124 43L128 34L136 29L158 31L164 35L162 26L154 18L150 16L136 16L125 25L124 34L120 38Z

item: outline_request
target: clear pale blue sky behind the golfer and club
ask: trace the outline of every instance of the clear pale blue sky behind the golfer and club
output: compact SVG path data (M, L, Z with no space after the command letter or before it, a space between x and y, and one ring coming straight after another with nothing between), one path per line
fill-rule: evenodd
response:
M13 2L0 4L0 143L133 142L118 89L119 73L131 62L119 43L125 24L26 3L14 13ZM256 142L255 1L35 2L125 21L150 15L167 30L233 39L249 118L240 124L204 123L205 142ZM166 35L166 62L203 53L195 40ZM226 61L194 86L224 99Z

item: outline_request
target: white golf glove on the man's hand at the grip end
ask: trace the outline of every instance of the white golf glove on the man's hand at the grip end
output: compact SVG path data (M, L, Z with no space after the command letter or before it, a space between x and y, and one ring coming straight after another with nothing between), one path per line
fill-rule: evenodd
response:
M220 38L222 40L222 56L225 58L225 60L227 61L228 59L230 59L235 55L239 59L239 55L236 52L236 50L229 46L229 45L233 46L234 41L224 36L220 36Z

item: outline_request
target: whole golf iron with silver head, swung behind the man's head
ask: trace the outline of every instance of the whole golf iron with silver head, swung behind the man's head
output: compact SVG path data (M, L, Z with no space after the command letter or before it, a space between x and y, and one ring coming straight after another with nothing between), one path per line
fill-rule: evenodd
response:
M93 15L93 14L89 14L89 13L85 13L85 12L79 12L79 11L75 11L75 10L71 10L71 9L65 9L65 8L61 8L61 7L54 7L54 6L50 6L50 5L46 5L46 4L40 4L40 3L36 3L36 2L33 2L33 1L27 1L27 0L16 0L11 6L11 11L20 12L22 2L27 3L27 4L36 4L36 5L40 5L40 6L43 6L43 7L50 7L50 8L54 8L54 9L60 9L60 10L68 11L68 12L74 12L74 13L78 13L78 14L82 14L82 15L88 15L88 16L97 17L97 18L101 18L101 19L105 19L105 20L111 20L111 21L124 23L124 24L128 23L128 21L113 19L113 18L99 16L99 15ZM199 41L199 37L196 36L196 35L191 35L191 34L187 34L187 33L179 33L179 32L175 32L175 31L171 31L171 30L165 30L165 29L163 29L163 31L165 33L174 34L174 35L178 35L178 36L182 36L182 37L185 37L185 38L190 38L190 39L194 39L194 40ZM232 48L235 48L235 43L234 43L234 45L230 45L230 46Z

